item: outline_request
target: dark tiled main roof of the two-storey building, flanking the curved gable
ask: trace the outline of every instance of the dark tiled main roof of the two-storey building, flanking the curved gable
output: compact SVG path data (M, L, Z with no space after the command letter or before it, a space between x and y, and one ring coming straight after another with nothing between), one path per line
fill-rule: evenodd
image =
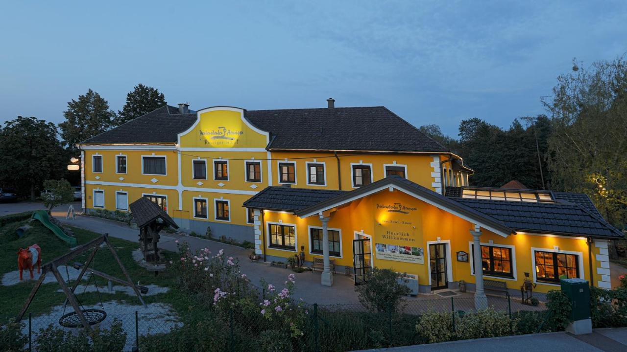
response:
M178 111L162 106L83 143L176 143L196 121L196 113ZM246 110L245 116L272 134L270 149L448 151L384 106Z

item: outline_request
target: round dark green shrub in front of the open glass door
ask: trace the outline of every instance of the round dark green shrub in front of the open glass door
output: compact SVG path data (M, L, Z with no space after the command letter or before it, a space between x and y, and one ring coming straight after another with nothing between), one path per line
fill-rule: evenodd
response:
M401 274L391 269L373 268L365 284L355 288L359 302L372 311L398 311L409 287L399 283Z

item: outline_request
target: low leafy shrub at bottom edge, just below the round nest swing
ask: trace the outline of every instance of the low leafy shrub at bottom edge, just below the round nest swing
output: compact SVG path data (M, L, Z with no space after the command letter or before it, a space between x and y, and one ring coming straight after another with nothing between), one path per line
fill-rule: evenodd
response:
M117 352L124 349L126 337L122 322L114 319L110 329L94 326L92 333L83 329L73 334L50 324L48 328L40 329L35 342L39 352Z

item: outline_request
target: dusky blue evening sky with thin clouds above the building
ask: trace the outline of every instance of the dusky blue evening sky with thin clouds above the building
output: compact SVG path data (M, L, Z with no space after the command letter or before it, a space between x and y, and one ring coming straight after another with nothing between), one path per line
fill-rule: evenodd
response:
M627 51L625 1L1 1L0 120L63 121L88 88L171 105L385 105L456 135L544 113L572 58Z

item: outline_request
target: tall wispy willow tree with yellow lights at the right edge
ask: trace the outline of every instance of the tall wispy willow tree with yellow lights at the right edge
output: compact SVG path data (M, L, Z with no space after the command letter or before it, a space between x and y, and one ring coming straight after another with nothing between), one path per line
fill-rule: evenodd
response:
M627 62L598 61L557 78L544 99L552 187L583 192L616 225L627 223Z

